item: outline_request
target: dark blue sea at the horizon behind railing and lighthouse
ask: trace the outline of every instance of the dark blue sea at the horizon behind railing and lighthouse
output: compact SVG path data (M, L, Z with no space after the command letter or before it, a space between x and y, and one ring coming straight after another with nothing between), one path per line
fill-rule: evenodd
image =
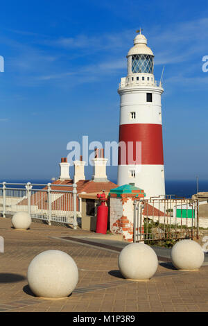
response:
M48 182L52 182L51 180L3 180L10 183L22 183L26 184L27 182L31 182L32 184L47 184ZM1 181L1 182L3 182ZM111 180L116 183L116 180ZM193 194L197 192L197 183L196 180L166 180L166 195L175 195L177 197L185 197L191 198ZM1 186L0 186L1 187ZM14 185L12 187L15 188L24 188L24 185L18 186ZM42 186L34 186L35 189L41 189ZM198 192L208 191L208 180L198 180Z

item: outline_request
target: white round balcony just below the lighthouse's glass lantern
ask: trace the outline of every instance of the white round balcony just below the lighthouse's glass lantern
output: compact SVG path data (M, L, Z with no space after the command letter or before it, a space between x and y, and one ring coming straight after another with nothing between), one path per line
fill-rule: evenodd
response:
M162 82L155 80L152 76L128 76L121 78L119 89L135 86L156 86L162 88Z

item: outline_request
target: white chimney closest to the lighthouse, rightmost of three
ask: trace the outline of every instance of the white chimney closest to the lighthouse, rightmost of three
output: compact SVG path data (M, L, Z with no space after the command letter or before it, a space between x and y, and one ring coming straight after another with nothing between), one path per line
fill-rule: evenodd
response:
M95 148L93 164L92 180L94 182L108 182L106 175L107 158L104 157L103 148Z

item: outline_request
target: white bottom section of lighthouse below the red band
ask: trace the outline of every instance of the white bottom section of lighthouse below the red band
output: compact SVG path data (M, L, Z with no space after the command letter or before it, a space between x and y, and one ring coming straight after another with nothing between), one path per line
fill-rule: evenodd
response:
M135 177L134 175L135 171ZM118 185L132 184L144 189L146 199L165 196L164 165L119 165Z

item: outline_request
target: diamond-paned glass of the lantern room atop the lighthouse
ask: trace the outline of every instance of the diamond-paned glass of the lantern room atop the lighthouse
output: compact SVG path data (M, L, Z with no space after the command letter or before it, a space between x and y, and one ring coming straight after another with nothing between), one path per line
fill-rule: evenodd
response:
M132 73L153 74L153 55L132 55Z

